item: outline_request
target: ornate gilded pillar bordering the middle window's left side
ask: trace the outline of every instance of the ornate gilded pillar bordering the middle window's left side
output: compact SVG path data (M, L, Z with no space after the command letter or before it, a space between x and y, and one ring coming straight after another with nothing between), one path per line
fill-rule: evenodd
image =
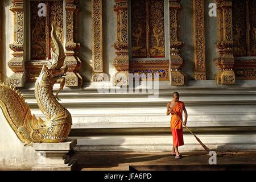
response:
M114 85L129 84L129 47L128 47L128 1L115 0L114 11L117 13L117 42L114 43L116 57L113 61L117 73Z

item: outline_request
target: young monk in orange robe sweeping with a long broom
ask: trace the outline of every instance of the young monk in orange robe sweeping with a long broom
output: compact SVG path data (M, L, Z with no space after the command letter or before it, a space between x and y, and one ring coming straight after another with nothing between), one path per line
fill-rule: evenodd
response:
M174 92L172 94L173 100L167 104L167 111L166 114L170 115L172 114L171 118L171 132L172 132L172 138L173 138L173 147L172 147L172 155L175 155L176 159L180 159L181 155L179 153L178 147L183 146L183 129L182 129L182 121L180 122L180 119L182 119L182 113L184 111L185 114L185 120L183 122L183 125L185 126L187 124L188 119L188 113L185 109L184 102L179 101L180 95L177 92ZM180 119L177 118L177 116L174 114L174 112L179 115Z

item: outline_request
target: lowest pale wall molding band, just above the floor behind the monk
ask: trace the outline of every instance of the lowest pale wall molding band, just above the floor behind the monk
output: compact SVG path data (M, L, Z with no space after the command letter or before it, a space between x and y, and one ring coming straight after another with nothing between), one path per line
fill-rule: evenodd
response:
M196 134L210 150L256 150L256 134ZM98 151L171 151L169 135L119 135L78 137L75 152ZM184 134L184 146L179 151L204 150L191 134Z

